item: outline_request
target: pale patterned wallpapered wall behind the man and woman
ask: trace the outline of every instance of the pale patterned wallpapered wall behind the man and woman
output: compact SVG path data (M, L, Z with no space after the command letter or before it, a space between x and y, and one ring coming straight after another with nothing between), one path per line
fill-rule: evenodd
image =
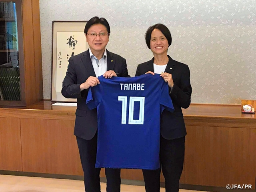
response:
M256 99L255 0L40 0L44 98L50 98L53 20L104 17L107 49L126 58L128 72L152 58L146 29L168 26L168 54L188 64L193 103L240 104Z

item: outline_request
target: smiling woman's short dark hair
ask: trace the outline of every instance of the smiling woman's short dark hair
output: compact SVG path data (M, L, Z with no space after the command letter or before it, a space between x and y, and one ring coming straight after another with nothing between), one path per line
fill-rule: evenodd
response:
M146 44L149 49L150 49L151 34L154 29L158 29L162 32L162 34L164 34L164 36L168 40L169 46L172 44L172 36L171 36L170 30L165 25L158 23L158 24L150 26L145 33L145 40L146 40Z

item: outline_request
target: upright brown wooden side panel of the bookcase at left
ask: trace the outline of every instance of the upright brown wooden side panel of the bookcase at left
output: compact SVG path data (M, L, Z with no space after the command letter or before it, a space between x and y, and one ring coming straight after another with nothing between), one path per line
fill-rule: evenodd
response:
M43 99L39 0L22 0L26 104Z

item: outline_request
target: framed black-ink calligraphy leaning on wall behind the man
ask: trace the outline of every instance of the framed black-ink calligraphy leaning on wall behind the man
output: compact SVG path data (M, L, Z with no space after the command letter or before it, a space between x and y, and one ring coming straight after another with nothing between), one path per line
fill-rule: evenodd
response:
M51 101L76 102L62 96L62 81L71 56L86 51L89 46L84 35L87 21L52 22L52 80Z

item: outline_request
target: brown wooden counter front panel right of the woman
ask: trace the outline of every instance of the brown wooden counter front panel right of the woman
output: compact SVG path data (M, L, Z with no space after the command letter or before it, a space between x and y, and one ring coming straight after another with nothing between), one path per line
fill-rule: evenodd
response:
M187 132L186 184L255 188L256 129L187 126Z

